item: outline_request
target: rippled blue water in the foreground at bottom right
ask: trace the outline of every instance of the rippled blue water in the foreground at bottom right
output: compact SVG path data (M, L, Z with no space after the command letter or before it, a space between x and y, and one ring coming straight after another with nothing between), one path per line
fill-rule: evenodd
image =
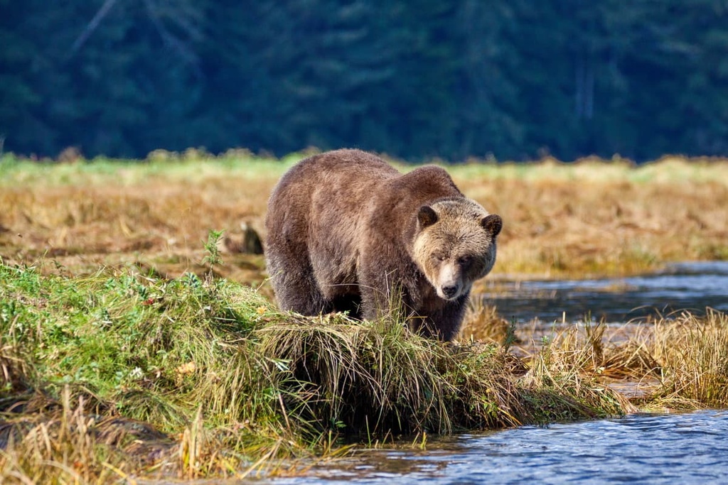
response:
M278 484L725 484L728 412L633 414L612 420L461 435L427 450L368 450Z

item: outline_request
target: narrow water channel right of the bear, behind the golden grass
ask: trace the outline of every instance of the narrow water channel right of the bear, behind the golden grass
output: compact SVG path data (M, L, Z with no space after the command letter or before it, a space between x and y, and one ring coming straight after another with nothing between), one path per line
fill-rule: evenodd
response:
M624 322L667 315L675 310L700 313L706 307L728 311L728 262L687 262L662 273L584 281L524 281L483 294L498 313L516 321Z

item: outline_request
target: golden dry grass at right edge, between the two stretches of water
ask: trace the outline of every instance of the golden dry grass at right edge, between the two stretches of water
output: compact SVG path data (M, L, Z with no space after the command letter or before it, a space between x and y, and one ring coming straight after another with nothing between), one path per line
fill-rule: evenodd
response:
M728 407L728 314L682 312L650 324L566 326L532 345L530 372L595 376L624 388L632 404L623 409Z

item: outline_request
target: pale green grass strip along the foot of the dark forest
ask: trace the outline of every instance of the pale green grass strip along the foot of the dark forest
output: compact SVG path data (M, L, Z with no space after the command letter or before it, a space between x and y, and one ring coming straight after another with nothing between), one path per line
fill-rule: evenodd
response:
M58 185L74 185L79 177L87 183L108 183L113 178L122 185L134 185L151 177L165 177L167 180L197 181L205 177L226 174L248 179L280 177L286 169L297 161L315 153L304 151L290 153L282 159L258 156L247 150L231 150L213 156L204 151L189 149L182 153L158 150L149 153L144 160L107 159L97 157L92 160L81 159L76 163L58 164L53 160L38 161L20 159L12 153L0 156L0 184L35 183L42 180ZM553 180L588 182L634 183L722 183L727 172L724 159L684 159L664 157L649 164L636 166L625 159L584 159L573 163L563 163L545 159L531 163L483 162L474 160L467 164L443 165L454 177L463 180L486 178L488 180L523 180L529 182ZM413 169L409 164L392 160L403 172ZM123 169L120 171L119 168ZM48 172L53 172L48 177Z

